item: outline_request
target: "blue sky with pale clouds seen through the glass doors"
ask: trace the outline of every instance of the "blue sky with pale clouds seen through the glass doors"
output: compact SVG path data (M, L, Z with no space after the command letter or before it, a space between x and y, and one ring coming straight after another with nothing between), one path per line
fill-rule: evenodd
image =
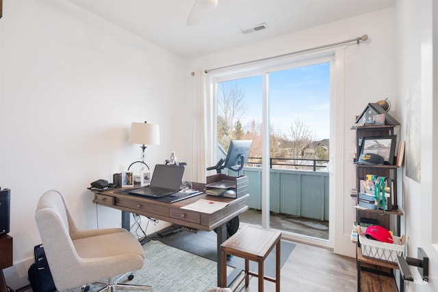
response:
M261 122L262 77L227 81L244 92L246 111L240 119ZM299 118L315 135L315 140L329 138L330 63L313 64L271 72L269 76L270 125L287 133Z

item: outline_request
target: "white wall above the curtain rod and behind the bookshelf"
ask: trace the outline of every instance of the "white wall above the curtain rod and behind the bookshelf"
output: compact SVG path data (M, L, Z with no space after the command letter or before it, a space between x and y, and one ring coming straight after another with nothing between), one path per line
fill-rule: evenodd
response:
M257 33L263 34L263 31ZM341 161L341 165L335 171L335 175L340 176L337 178L335 196L340 199L337 200L335 209L331 209L335 215L335 222L331 222L330 227L335 235L333 248L339 254L355 256L355 245L350 241L352 224L355 221L355 212L350 199L350 189L355 186L355 168L351 161L346 160L346 153L356 150L355 131L350 130L350 127L355 122L355 116L361 114L368 103L389 98L392 105L397 104L394 33L395 10L389 8L297 31L265 42L199 57L190 62L191 70L216 68L368 34L370 39L365 44L359 47L350 44L344 51L345 79L342 81L344 87L337 89L338 96L335 101L337 109L344 109L339 112L342 115L340 119L342 122L337 124L337 129L340 129L341 133L336 135L341 137L340 141L337 141L335 150L340 155L334 157ZM339 92L344 93L343 101ZM397 116L392 112L391 114Z

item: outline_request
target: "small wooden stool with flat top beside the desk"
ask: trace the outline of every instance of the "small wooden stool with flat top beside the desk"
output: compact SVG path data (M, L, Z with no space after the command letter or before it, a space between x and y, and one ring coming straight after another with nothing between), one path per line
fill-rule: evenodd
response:
M263 279L275 282L275 291L280 292L280 241L281 232L244 226L235 235L220 245L222 270L220 287L227 287L227 254L245 259L245 287L249 284L249 275L259 278L259 291L263 291ZM264 276L263 262L272 248L276 246L275 278ZM249 271L249 261L259 264L259 274Z

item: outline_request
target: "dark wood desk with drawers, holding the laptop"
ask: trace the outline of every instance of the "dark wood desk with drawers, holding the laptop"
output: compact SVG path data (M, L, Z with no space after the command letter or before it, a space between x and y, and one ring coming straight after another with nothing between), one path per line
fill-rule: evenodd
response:
M195 187L195 186L194 186ZM203 189L203 187L195 187L196 189ZM211 231L216 230L217 233L217 263L218 263L218 285L221 278L221 258L220 245L227 239L227 222L246 211L246 199L248 194L240 198L222 198L207 196L201 194L192 198L187 198L179 202L166 203L159 202L153 199L140 198L137 196L130 196L126 194L118 194L116 191L126 190L111 189L107 191L94 190L95 204L100 204L106 207L119 209L122 211L122 226L129 230L130 214L135 213L146 217L153 217L158 220L163 220L173 224L190 227L198 230ZM188 204L196 202L199 199L216 200L220 202L227 202L228 206L211 214L201 213L198 211L191 211L181 209Z

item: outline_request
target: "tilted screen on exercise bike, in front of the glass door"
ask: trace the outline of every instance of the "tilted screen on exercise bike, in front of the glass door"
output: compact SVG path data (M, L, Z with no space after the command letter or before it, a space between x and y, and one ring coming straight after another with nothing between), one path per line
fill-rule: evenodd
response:
M248 161L252 144L253 140L231 140L224 168L240 172L244 168L246 161Z

